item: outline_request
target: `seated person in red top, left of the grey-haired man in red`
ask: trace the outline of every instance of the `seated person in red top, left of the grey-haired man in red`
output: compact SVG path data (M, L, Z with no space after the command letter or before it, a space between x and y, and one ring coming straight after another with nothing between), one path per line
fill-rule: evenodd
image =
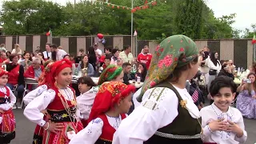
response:
M10 87L10 90L14 90L18 92L17 101L14 105L13 109L22 109L22 95L24 92L24 67L18 64L18 54L10 54L10 61L6 65L6 70L8 71L8 83L6 86Z

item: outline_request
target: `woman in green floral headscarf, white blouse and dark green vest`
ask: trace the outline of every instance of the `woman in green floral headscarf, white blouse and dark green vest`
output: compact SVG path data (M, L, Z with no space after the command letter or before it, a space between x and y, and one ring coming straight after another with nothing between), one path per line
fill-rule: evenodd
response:
M198 71L198 48L190 38L174 35L154 51L138 106L114 134L113 144L202 144L198 107L186 80Z

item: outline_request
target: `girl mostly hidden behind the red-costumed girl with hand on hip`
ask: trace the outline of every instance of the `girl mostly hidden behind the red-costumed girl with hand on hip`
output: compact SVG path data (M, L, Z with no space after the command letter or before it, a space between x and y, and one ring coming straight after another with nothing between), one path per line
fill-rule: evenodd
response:
M37 98L39 95L42 94L42 92L48 90L50 87L50 82L47 82L47 75L50 74L51 66L54 62L50 62L46 68L43 70L41 76L38 78L38 88L35 90L30 91L30 93L26 94L26 96L23 98L23 102L25 105L28 105L31 101L33 101L34 98ZM44 120L46 120L46 110L41 111L42 114L44 114ZM34 137L33 137L33 144L42 144L42 134L43 134L43 128L39 125L35 127L34 130Z

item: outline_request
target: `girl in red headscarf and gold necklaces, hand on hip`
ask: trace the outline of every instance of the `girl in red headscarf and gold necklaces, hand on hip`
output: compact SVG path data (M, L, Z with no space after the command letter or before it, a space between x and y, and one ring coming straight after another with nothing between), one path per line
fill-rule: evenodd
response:
M54 62L46 78L50 88L34 98L24 110L26 118L44 128L43 144L67 144L82 130L74 90L69 87L71 68L72 63L67 59ZM43 120L42 110L47 110L49 122Z

